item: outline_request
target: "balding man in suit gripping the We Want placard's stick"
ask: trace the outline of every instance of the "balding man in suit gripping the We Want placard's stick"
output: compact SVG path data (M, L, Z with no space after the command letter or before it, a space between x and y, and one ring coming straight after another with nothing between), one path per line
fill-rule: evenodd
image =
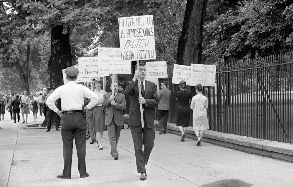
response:
M109 142L111 145L110 155L114 160L118 159L117 144L120 137L121 127L124 126L123 110L126 109L125 96L118 93L118 84L114 84L114 95L112 92L104 95L103 108L106 109L105 125L108 128ZM110 87L112 89L112 86Z

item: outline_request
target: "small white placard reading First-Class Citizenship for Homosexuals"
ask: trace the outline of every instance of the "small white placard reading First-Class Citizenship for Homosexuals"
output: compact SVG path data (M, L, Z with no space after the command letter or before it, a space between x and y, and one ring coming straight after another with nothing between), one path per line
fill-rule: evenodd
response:
M147 62L147 77L149 78L167 78L167 62Z

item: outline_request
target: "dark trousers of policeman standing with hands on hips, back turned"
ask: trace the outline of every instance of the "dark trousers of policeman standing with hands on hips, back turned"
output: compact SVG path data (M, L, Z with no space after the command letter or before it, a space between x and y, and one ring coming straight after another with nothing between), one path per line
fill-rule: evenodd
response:
M82 113L67 113L61 118L63 142L63 175L71 176L73 138L77 152L77 168L80 175L86 174L86 119Z

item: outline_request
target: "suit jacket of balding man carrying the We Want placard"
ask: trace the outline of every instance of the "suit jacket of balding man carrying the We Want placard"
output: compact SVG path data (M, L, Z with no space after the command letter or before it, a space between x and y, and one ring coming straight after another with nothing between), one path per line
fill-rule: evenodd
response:
M114 107L114 105L112 105L109 100L111 95L112 92L106 93L104 95L103 108L106 109L105 125L110 125L114 116L115 124L122 126L124 125L123 110L126 109L125 96L117 92L114 99L116 106Z

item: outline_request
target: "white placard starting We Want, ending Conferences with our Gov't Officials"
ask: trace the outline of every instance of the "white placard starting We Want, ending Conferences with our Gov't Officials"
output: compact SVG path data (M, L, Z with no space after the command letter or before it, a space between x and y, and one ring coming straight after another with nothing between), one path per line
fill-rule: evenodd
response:
M131 61L121 61L120 48L98 47L98 73L130 74Z

